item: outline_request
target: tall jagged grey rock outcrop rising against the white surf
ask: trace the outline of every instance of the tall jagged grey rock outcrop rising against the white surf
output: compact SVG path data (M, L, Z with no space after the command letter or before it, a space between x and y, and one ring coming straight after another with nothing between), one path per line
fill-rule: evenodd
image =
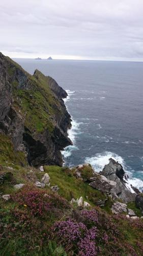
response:
M105 165L101 175L104 175L108 180L116 181L117 184L110 190L110 193L115 193L118 198L122 199L125 203L135 200L136 194L131 193L130 189L126 187L125 172L120 163L116 162L112 158L109 159L109 163Z

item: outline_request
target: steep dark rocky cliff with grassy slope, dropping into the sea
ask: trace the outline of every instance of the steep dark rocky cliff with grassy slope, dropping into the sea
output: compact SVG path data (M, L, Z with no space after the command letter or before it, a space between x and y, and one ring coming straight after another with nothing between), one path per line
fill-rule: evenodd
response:
M38 70L32 76L0 53L0 132L31 165L62 165L61 150L72 144L66 96L54 79Z

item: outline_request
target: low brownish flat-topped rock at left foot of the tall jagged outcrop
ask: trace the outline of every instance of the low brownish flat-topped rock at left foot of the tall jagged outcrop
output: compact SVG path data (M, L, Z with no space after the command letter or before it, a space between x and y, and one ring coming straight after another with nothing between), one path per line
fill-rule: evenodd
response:
M116 182L110 181L105 176L100 175L100 177L94 178L94 181L91 182L89 185L102 192L109 192L111 188L116 186Z

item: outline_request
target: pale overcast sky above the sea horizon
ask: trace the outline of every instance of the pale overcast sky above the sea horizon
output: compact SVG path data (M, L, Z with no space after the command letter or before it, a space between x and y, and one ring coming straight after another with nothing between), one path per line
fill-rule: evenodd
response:
M142 0L0 1L10 57L143 61Z

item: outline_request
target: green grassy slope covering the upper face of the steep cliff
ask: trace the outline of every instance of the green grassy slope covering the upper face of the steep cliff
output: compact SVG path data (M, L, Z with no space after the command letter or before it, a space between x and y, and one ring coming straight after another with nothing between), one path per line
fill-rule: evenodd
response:
M56 115L61 115L62 109L59 99L48 87L48 79L40 71L37 78L24 71L16 62L7 57L8 73L13 75L20 69L28 78L31 90L20 90L18 81L13 81L14 106L23 115L25 125L34 132L43 132L48 129L52 133Z

